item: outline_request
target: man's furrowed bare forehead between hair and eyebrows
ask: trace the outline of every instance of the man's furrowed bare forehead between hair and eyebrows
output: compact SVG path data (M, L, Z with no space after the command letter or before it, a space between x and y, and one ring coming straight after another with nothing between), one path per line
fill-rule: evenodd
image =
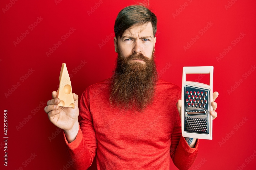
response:
M148 36L152 36L153 37L153 27L151 22L148 22L144 25L133 25L130 28L128 28L127 30L124 31L123 36L126 35L148 35ZM122 37L123 37L122 36Z

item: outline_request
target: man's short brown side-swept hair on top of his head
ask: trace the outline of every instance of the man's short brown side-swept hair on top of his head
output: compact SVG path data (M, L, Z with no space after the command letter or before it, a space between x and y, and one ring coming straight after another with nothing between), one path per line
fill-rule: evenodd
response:
M125 30L133 25L144 25L148 22L152 23L153 35L156 34L157 18L146 5L131 5L123 8L115 20L115 37L118 39L122 37Z

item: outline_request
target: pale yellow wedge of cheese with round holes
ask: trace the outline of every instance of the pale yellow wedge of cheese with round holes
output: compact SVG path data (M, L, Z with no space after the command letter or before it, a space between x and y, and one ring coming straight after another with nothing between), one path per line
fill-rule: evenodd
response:
M72 94L71 82L65 63L62 63L60 71L60 86L57 90L57 98L60 99L59 106L74 108L74 98Z

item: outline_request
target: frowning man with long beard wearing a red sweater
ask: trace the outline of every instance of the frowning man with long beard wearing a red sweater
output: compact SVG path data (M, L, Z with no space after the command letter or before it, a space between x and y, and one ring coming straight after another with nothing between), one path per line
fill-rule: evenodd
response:
M73 93L75 108L67 108L52 92L45 112L64 130L75 169L87 169L95 156L98 169L167 170L170 156L179 169L188 169L195 161L198 139L181 136L181 89L156 71L156 24L148 8L125 7L115 21L113 76L84 90L79 109L78 95Z

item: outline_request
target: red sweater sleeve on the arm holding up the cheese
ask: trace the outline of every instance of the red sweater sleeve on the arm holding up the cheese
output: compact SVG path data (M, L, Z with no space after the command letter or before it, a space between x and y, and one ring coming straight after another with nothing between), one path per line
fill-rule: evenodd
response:
M81 96L78 121L79 131L74 141L68 143L64 131L63 135L68 157L73 162L73 168L87 169L91 166L97 149L97 140L90 113L88 88Z

